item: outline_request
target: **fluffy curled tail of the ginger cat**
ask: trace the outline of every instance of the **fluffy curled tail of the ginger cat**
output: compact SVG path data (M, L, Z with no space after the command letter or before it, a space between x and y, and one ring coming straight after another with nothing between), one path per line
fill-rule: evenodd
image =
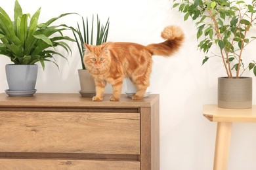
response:
M181 47L184 33L180 27L170 25L163 29L161 37L166 41L158 44L148 44L146 48L148 48L152 55L171 56Z

